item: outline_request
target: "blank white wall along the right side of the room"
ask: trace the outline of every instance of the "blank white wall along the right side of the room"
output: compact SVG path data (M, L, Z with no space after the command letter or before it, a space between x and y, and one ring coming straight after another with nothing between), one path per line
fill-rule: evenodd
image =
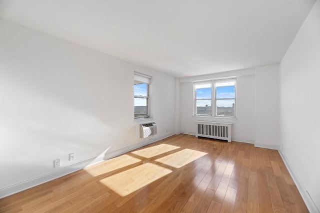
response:
M282 154L311 212L320 212L319 79L320 1L317 0L280 64Z

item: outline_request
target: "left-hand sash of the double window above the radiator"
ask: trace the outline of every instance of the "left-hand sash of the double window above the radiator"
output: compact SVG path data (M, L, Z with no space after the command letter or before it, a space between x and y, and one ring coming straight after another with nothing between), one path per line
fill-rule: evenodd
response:
M194 84L195 115L211 115L212 83Z

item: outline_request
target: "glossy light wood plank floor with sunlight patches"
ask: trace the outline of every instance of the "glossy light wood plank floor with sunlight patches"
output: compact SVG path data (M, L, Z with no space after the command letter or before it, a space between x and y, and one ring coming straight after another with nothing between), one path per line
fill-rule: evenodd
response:
M177 135L0 200L0 212L308 212L279 153Z

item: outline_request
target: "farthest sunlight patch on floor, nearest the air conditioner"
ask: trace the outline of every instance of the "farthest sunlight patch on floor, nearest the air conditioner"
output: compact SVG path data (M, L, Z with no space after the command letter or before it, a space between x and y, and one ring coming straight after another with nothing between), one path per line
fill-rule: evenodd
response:
M134 152L131 152L135 155L141 156L143 158L152 158L154 156L178 149L180 147L177 146L173 146L173 145L168 145L168 144L160 144L157 146L153 146L153 147L148 147L145 149L141 149L141 150L137 150Z

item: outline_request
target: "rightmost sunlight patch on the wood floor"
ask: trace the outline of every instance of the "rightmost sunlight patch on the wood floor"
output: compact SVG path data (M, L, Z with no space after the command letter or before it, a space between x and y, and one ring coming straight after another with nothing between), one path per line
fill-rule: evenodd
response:
M174 168L180 168L206 154L207 153L205 152L184 149L171 155L167 155L163 158L159 158L155 161Z

